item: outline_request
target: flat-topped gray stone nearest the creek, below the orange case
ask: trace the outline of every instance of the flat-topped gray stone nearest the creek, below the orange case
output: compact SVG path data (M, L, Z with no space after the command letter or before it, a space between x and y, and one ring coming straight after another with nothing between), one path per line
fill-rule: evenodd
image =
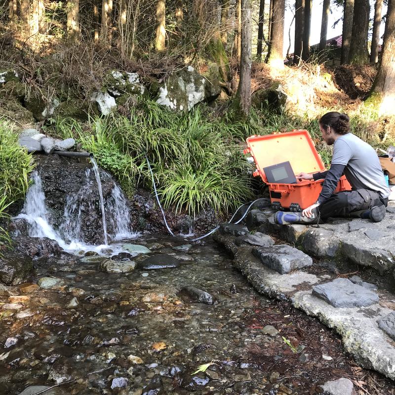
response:
M261 262L279 274L313 265L313 259L304 252L290 245L273 245L271 247L253 248L252 254Z

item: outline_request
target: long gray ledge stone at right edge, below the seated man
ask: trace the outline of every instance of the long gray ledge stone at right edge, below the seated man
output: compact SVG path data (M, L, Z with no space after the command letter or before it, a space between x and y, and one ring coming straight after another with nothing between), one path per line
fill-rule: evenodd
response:
M377 269L381 275L393 269L395 265L392 253L381 248L370 247L360 240L343 240L341 252L345 258L358 265Z

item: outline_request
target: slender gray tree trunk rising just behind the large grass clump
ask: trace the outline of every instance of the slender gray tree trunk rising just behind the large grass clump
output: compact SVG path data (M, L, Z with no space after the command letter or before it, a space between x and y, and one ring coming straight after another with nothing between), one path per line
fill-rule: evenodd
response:
M240 114L247 118L251 108L251 0L242 0L242 13L240 81L236 101L240 105Z

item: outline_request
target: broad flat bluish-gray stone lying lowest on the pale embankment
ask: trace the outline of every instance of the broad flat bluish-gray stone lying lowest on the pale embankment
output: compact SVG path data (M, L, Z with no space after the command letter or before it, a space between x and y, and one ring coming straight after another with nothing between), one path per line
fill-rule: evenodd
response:
M313 295L333 307L363 307L379 301L379 296L347 278L336 278L326 284L315 285Z

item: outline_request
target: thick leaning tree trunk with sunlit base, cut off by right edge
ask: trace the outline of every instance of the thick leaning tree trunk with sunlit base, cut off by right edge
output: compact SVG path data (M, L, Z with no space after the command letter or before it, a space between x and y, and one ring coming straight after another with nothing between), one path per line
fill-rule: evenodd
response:
M395 115L395 0L388 0L382 56L367 102L379 107L380 115Z

